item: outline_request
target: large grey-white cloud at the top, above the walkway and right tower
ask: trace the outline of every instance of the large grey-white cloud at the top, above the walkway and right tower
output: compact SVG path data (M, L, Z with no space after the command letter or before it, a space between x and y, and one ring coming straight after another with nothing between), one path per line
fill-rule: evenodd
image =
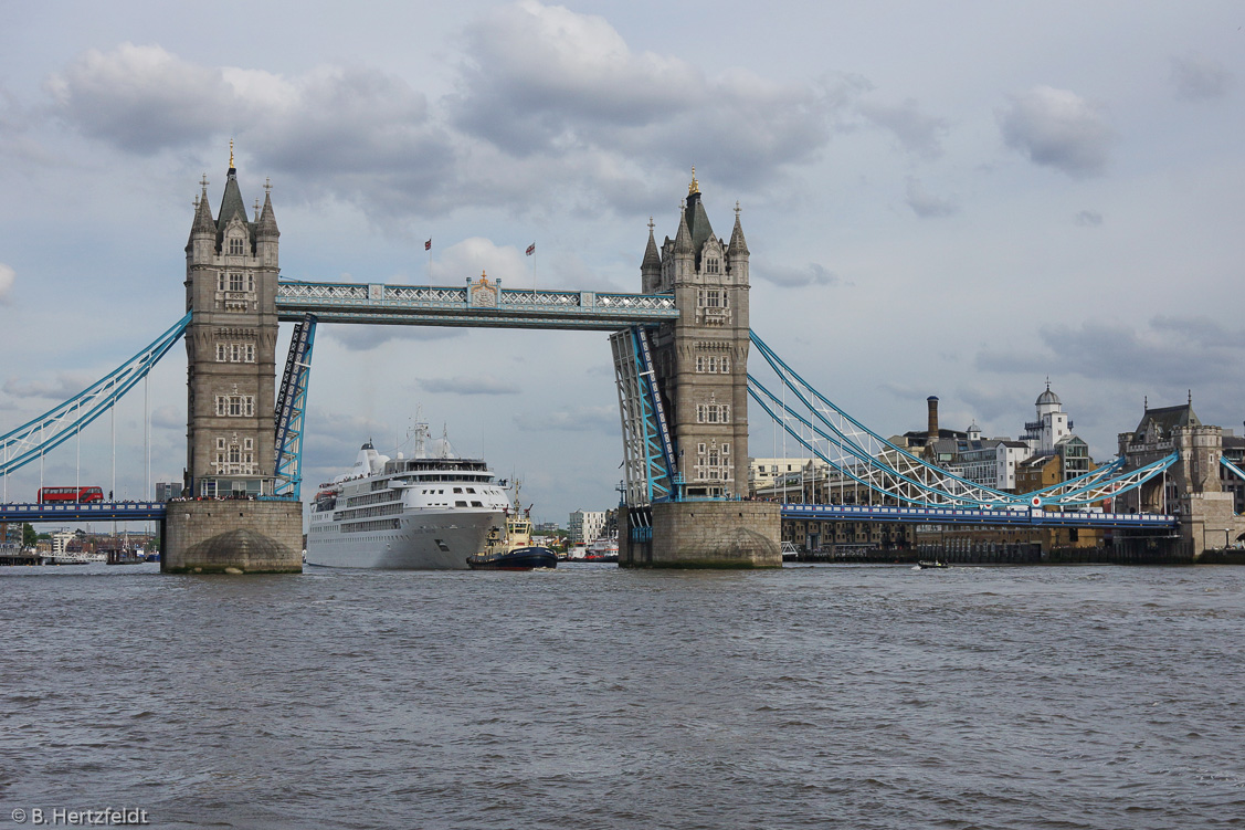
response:
M843 82L781 85L735 70L632 52L604 19L534 1L466 31L453 123L517 158L557 156L631 178L627 161L696 163L732 184L761 183L828 141ZM588 161L593 160L593 161Z

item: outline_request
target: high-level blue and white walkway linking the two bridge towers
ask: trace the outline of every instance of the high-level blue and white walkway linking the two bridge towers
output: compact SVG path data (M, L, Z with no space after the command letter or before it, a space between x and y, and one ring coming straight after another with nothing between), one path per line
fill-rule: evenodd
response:
M314 314L320 323L381 323L616 332L679 318L672 294L553 292L448 285L310 283L283 279L276 315L283 322Z

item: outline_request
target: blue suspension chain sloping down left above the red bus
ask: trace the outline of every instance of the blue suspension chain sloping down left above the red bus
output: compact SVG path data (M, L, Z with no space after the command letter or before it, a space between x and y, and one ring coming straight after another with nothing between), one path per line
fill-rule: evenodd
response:
M9 475L30 464L106 413L182 338L189 322L188 313L154 343L87 389L0 436L0 475Z

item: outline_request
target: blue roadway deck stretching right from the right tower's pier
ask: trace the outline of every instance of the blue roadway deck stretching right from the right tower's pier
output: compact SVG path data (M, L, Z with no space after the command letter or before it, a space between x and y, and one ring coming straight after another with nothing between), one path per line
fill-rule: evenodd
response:
M970 507L916 507L869 505L783 505L783 518L858 522L911 522L918 525L977 525L982 527L1127 527L1172 530L1175 516L1165 513L1052 513L1045 510L974 510Z

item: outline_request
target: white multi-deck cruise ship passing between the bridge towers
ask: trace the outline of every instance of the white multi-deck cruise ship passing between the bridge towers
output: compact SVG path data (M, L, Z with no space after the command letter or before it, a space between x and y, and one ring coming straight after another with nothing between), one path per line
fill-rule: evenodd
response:
M371 441L350 472L320 485L311 505L306 561L350 568L466 570L491 530L504 527L509 498L482 460L426 451L416 425L412 457L381 455Z

